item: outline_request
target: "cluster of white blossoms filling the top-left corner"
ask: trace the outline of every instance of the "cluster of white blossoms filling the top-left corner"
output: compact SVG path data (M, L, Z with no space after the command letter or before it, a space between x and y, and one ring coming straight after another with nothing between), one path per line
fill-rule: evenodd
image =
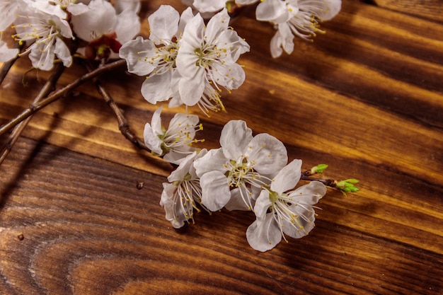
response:
M12 27L13 39L25 47L20 53L0 40L0 62L29 54L37 69L49 71L56 58L64 66L71 66L72 42L77 42L80 52L91 58L118 52L123 43L139 33L140 4L122 0L116 3L113 6L105 0L0 0L1 35Z

